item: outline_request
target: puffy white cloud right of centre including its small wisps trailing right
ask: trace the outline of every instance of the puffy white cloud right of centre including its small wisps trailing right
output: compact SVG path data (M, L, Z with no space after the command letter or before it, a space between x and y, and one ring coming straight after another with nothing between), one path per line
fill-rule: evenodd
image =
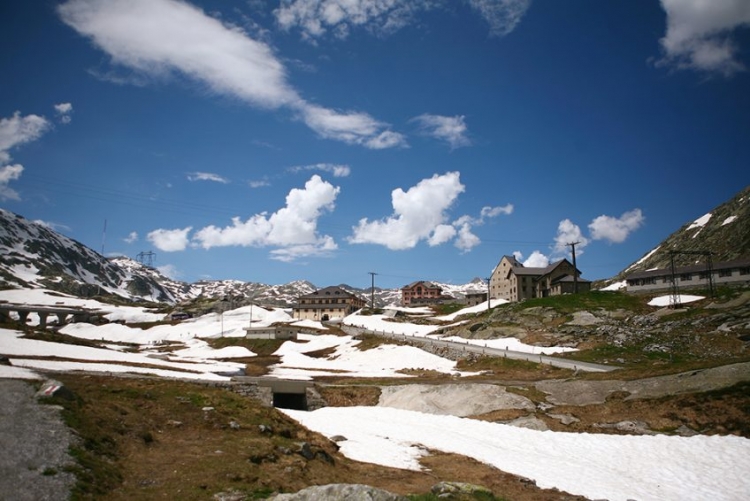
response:
M396 188L391 192L393 214L378 221L360 219L348 241L404 250L423 240L433 247L453 240L458 249L468 252L481 243L472 229L488 217L510 213L512 206L484 207L479 217L461 216L451 222L448 209L464 190L458 172L435 174L407 191Z

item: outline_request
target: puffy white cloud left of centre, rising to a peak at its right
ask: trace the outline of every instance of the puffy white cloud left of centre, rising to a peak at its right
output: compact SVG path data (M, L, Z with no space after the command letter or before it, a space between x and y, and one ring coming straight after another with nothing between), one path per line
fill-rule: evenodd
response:
M304 189L292 189L286 197L286 206L270 216L256 214L246 221L232 218L231 226L219 228L207 226L193 237L193 241L205 248L282 247L272 251L272 256L291 260L303 255L319 255L336 248L333 239L317 232L317 220L325 212L334 209L340 188L314 175L305 183Z

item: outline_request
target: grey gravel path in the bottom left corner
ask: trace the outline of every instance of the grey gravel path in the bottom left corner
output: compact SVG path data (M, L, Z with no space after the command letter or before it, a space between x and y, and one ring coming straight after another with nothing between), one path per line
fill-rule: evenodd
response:
M68 499L75 483L63 471L73 463L73 438L60 409L40 404L26 381L0 379L0 500Z

